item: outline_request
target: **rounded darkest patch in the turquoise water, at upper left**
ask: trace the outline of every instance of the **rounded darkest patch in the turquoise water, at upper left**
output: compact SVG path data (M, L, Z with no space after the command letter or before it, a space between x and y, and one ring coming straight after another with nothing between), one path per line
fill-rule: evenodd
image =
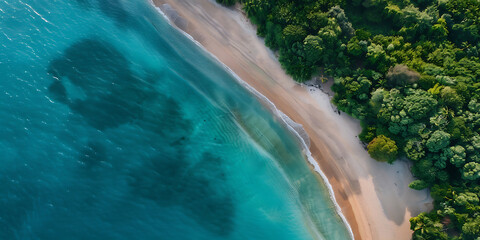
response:
M49 91L93 127L104 130L139 118L141 104L156 96L133 76L125 57L110 44L83 39L53 60ZM68 88L67 88L68 87Z

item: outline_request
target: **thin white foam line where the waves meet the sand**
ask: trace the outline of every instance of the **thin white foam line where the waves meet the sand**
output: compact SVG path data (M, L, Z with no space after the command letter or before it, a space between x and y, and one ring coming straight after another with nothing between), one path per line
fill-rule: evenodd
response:
M323 183L326 185L328 189L328 194L330 199L332 200L335 210L339 217L342 219L343 223L345 224L346 228L348 229L348 233L350 234L351 239L355 239L352 227L350 226L350 223L348 222L347 218L342 212L342 209L340 205L337 203L337 200L335 198L335 193L333 191L333 187L328 181L327 176L322 172L320 165L318 164L317 161L312 156L312 153L310 152L310 139L308 137L307 131L303 128L302 124L299 124L295 121L293 121L290 117L288 117L285 113L280 111L275 104L270 101L265 95L257 91L254 87L252 87L250 84L248 84L246 81L244 81L240 76L238 76L230 67L228 67L225 63L220 61L220 59L217 58L213 53L209 52L200 42L195 40L190 34L176 26L174 23L172 23L171 19L165 14L162 9L158 6L155 5L153 0L149 0L149 2L157 9L157 11L170 23L171 26L177 28L182 34L184 34L187 38L189 38L192 42L194 42L197 46L199 46L202 50L207 52L213 59L215 59L221 66L228 71L234 79L243 87L245 87L250 93L255 95L257 99L259 99L263 104L267 105L268 109L272 112L272 114L282 120L282 124L287 127L287 129L297 138L298 142L302 146L302 150L304 151L305 157L307 161L312 165L313 169L315 172L317 172L321 178Z

